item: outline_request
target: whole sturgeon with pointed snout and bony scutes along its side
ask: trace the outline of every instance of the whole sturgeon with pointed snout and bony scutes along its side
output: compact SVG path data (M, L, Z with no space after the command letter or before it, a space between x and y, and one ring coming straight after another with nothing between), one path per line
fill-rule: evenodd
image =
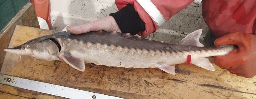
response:
M196 30L178 44L168 44L119 32L96 31L80 35L59 32L34 38L4 51L29 55L40 60L62 60L84 71L84 63L125 68L159 68L175 74L175 64L191 63L215 71L207 57L227 55L236 46L203 47L199 42L202 29Z

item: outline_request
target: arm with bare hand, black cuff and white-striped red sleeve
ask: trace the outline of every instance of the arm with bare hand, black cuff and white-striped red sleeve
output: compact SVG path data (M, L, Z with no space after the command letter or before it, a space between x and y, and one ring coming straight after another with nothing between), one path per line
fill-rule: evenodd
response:
M159 2L159 0L138 1L140 1L140 3L138 3L137 0L116 0L115 3L119 9L116 13L85 25L79 25L73 28L67 27L67 30L74 34L96 30L116 30L132 34L138 32L140 36L146 37L167 22L174 14L186 8L194 0L164 0L161 2ZM144 3L143 1L151 2L151 6L144 7L144 9L141 5L148 5L148 2ZM148 8L154 8L153 10L149 10L151 14L147 13ZM153 15L152 11L155 11L153 14L155 13L156 15ZM124 18L124 16L129 17ZM135 28L134 26L138 26L139 28Z

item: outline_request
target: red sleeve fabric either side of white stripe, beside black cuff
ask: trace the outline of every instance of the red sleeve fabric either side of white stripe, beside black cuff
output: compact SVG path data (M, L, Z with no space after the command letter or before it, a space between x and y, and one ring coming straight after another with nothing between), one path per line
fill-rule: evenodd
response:
M164 21L167 22L174 14L177 14L182 9L186 8L194 0L151 0L154 6L162 14ZM138 33L140 36L147 37L150 33L155 32L159 27L150 15L143 9L143 7L136 0L116 0L117 8L120 10L127 4L134 5L135 11L138 12L140 18L145 23L145 30Z

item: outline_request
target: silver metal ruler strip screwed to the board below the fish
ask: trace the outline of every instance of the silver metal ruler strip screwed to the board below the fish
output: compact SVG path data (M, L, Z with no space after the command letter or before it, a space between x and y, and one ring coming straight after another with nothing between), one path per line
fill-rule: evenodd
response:
M70 99L122 99L115 96L108 96L100 93L83 91L75 88L54 85L35 80L28 80L20 77L9 76L0 73L0 84L10 85L18 88L23 88L31 91L47 93L55 96L61 96Z

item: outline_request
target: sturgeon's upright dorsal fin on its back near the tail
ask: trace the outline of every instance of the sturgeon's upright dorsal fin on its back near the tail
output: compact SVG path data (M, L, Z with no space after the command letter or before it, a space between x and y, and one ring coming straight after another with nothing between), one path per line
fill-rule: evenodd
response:
M190 33L185 38L183 38L179 44L204 47L204 44L201 44L199 41L202 31L203 29L195 30L194 32Z

